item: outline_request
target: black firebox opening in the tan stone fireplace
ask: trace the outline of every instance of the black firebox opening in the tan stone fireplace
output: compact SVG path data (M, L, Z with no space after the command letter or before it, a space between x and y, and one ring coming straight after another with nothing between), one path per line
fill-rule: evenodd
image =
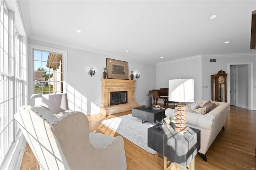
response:
M127 103L127 91L110 92L110 106Z

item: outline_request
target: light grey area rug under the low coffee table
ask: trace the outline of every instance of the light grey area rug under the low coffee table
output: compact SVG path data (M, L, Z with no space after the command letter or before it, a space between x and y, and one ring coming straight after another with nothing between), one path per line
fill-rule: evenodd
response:
M155 123L141 123L141 120L132 117L132 114L100 122L147 152L156 154L155 150L148 147L148 128L154 126Z

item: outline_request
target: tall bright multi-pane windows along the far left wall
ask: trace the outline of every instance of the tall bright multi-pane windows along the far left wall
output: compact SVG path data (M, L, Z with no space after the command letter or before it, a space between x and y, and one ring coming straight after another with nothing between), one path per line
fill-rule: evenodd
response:
M26 68L23 65L26 63L25 46L14 28L14 12L9 11L4 1L0 0L0 165L19 130L13 114L24 104L26 95Z

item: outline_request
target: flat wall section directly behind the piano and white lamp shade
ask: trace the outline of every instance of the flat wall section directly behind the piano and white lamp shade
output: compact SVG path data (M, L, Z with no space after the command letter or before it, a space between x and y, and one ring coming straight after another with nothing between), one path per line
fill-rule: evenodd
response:
M194 79L194 101L202 99L201 56L158 63L156 64L156 75L156 89L168 88L171 79ZM159 102L163 103L162 100Z

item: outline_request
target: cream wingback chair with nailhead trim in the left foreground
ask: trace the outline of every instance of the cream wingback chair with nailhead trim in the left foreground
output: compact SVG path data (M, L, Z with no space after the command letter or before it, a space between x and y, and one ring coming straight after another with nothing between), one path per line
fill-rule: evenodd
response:
M41 169L125 170L123 138L90 133L88 118L57 118L44 106L21 106L14 115Z

